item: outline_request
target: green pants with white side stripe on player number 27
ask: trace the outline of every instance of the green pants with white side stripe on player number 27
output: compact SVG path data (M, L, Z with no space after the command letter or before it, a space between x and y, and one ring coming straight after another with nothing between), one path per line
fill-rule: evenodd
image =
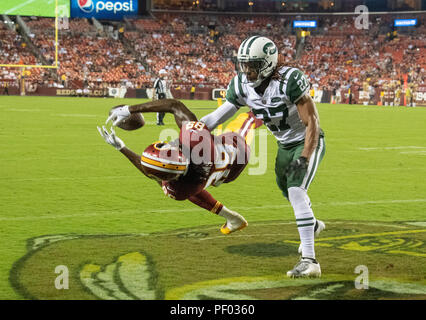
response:
M309 185L314 180L318 166L321 163L325 154L325 141L324 137L320 137L315 151L309 159L308 168L300 177L295 178L293 175L287 177L286 171L288 165L300 157L304 147L304 141L292 146L283 146L278 143L278 153L275 159L275 175L278 187L281 189L283 195L288 199L288 188L300 187L308 190Z

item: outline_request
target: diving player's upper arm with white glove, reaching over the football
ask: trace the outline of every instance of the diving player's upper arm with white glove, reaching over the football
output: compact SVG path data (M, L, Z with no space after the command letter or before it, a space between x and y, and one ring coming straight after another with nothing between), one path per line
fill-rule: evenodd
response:
M126 120L132 113L138 112L171 113L174 115L176 124L179 128L182 127L182 122L184 121L197 121L195 114L193 114L182 102L176 99L161 99L113 109L106 123L113 121L113 125L116 126Z

